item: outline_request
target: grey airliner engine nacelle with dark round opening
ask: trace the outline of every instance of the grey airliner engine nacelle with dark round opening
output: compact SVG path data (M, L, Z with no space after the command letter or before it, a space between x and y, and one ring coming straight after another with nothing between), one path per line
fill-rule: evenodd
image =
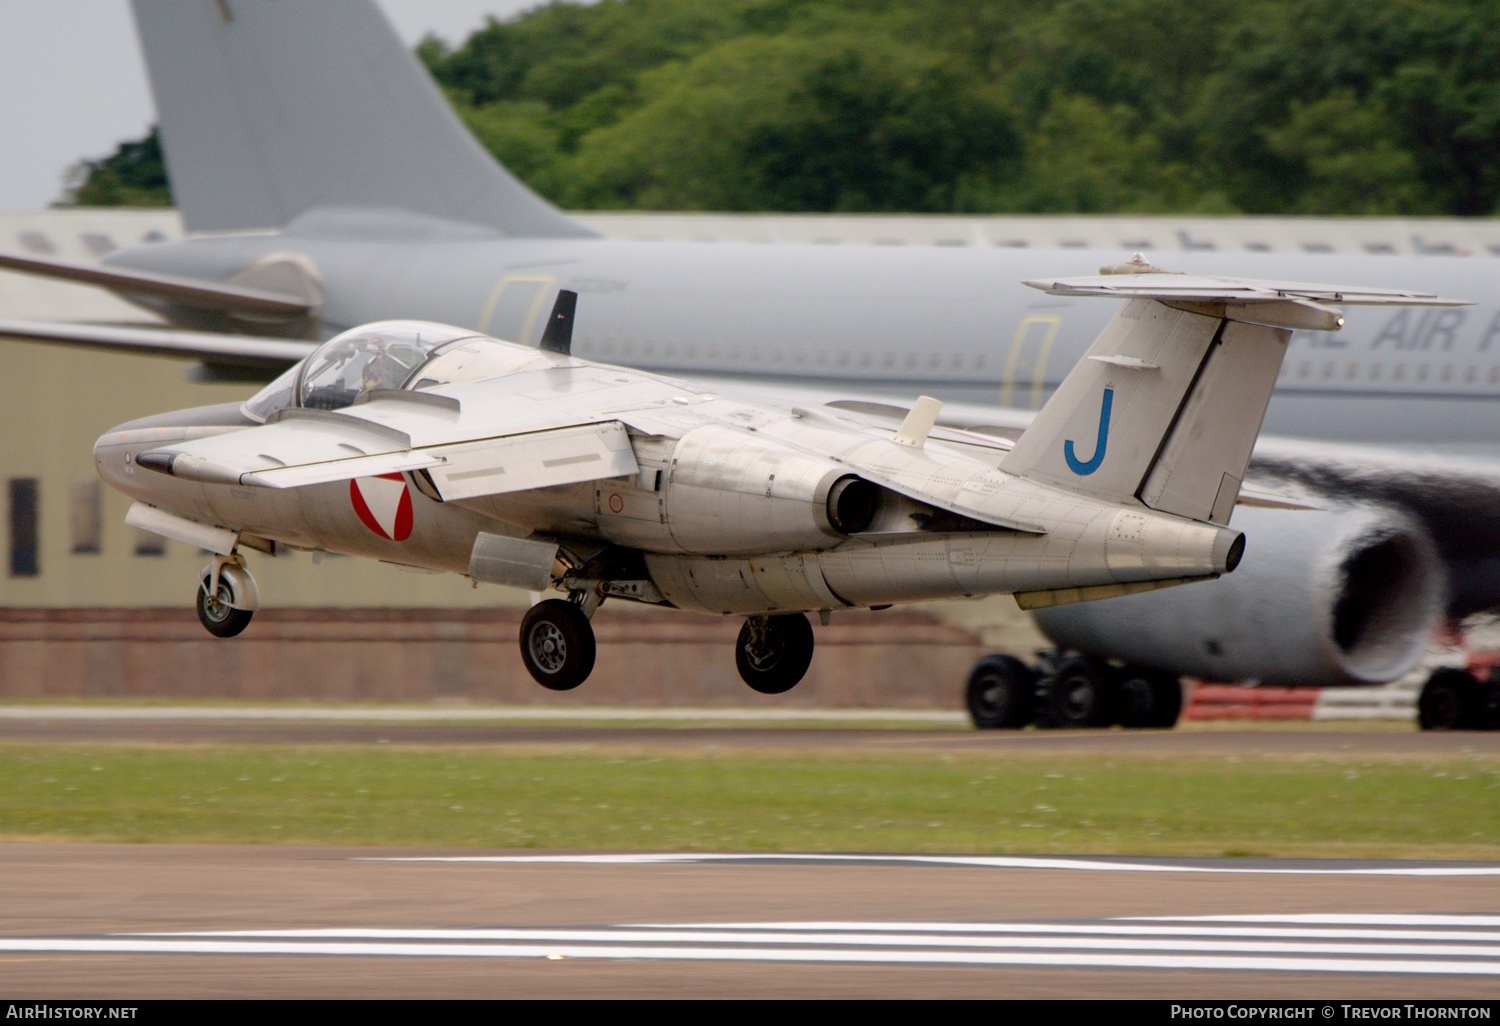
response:
M1054 642L1209 681L1374 684L1414 668L1444 579L1426 534L1378 508L1240 508L1239 572L1186 588L1036 612Z

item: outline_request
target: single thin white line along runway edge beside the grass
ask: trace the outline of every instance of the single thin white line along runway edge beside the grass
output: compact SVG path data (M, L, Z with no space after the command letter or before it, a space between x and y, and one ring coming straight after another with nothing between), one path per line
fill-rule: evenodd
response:
M1018 855L705 855L705 854L632 854L632 855L405 855L356 858L362 862L496 862L540 866L682 866L694 862L868 862L966 866L981 868L1042 868L1086 873L1222 873L1248 876L1500 876L1500 866L1230 866L1192 862L1113 862L1088 858L1038 858ZM1215 860L1204 860L1210 862Z

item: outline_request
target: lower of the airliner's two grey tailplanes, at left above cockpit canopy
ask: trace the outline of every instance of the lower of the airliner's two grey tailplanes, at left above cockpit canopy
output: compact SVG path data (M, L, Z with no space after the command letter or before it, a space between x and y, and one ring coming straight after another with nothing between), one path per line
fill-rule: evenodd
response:
M267 381L316 348L316 342L268 339L255 334L178 332L166 327L69 324L0 320L0 338L56 342L116 352L141 352L202 360L204 363L264 369Z

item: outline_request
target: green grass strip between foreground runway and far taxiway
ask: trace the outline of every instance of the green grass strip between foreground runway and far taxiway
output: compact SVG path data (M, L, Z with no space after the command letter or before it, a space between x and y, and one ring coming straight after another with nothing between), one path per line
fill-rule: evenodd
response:
M1500 858L1500 758L0 746L0 836Z

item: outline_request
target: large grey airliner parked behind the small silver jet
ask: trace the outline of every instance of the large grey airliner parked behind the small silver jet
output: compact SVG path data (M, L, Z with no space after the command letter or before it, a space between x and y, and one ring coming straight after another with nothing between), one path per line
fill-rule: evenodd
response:
M928 394L945 402L940 423L1017 436L1107 316L1022 279L1131 268L1116 250L606 240L474 141L369 0L132 3L192 234L102 266L0 254L0 267L99 285L174 327L4 321L0 334L268 381L320 340L387 318L536 344L556 291L570 290L573 350L586 358L753 381L892 423ZM1108 722L1126 705L1137 724L1170 724L1178 675L1384 682L1419 662L1444 620L1500 606L1497 267L1174 255L1170 270L1198 276L1353 280L1478 303L1352 310L1342 332L1298 333L1246 482L1270 498L1234 514L1250 536L1240 570L1038 610L1059 652L1041 666L981 662L975 722L1016 726L987 696L1017 675L1048 699L1040 708L1060 710L1050 720L1060 726ZM1101 446L1106 430L1107 417ZM1052 700L1058 688L1070 700ZM1142 694L1158 696L1149 714ZM1436 674L1420 717L1500 728L1500 687Z

